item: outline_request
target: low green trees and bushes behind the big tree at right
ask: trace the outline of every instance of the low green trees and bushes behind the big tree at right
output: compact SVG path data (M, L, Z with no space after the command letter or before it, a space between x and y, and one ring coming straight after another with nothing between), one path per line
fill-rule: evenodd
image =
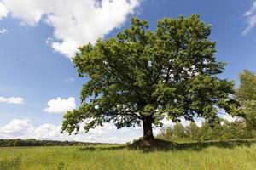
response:
M157 137L177 141L250 139L256 137L256 132L251 131L244 120L216 123L213 127L208 122L203 122L201 127L198 127L195 122L191 122L189 126L183 126L178 122L173 127L162 128Z

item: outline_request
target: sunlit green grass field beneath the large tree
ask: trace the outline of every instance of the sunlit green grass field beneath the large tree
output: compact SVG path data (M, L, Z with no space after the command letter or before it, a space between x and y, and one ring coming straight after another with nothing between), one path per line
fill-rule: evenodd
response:
M173 143L166 150L137 150L126 145L0 148L3 169L255 170L256 143Z

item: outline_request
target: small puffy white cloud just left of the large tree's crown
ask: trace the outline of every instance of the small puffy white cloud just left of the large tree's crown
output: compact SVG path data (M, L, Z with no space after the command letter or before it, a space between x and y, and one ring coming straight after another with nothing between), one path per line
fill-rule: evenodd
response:
M76 108L76 100L74 98L61 99L50 99L48 102L48 108L44 109L49 113L65 113L67 111L72 111Z

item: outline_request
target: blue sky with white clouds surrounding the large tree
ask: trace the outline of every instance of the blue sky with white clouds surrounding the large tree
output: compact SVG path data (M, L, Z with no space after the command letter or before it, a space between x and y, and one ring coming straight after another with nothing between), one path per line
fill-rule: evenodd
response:
M116 130L112 124L77 136L60 133L63 113L79 106L87 81L70 59L79 45L122 31L132 16L154 30L163 17L193 13L212 24L216 57L228 64L221 77L237 86L239 72L256 71L253 0L0 0L0 139L122 143L141 136L140 127Z

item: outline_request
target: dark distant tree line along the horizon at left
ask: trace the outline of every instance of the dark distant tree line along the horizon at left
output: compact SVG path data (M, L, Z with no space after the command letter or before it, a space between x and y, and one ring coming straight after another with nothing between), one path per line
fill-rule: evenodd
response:
M74 141L37 140L37 139L0 139L0 147L15 146L73 146L73 145L96 145L102 143L84 143Z

